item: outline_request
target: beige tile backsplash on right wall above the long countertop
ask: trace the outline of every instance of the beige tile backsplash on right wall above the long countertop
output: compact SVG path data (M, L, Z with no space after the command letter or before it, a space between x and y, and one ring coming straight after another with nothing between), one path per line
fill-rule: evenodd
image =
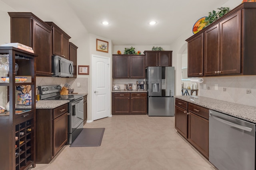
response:
M203 79L204 82L199 84L198 96L256 107L256 76L204 77Z

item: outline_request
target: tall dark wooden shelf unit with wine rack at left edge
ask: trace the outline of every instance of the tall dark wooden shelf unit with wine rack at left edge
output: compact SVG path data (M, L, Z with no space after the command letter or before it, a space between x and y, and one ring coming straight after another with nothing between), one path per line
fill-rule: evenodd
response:
M36 101L35 101L35 86L36 86L36 69L35 61L36 54L30 53L15 47L0 47L0 55L9 55L9 83L0 83L1 87L6 87L3 90L3 99L6 98L6 103L9 101L9 115L0 116L0 165L1 170L24 170L35 164L35 122L36 122ZM26 63L22 66L21 63ZM18 73L15 75L15 63L19 63ZM30 74L22 75L20 72L29 72ZM16 83L15 76L31 76L30 82ZM32 90L32 105L31 111L15 114L15 86L30 85ZM6 92L6 93L5 93ZM6 96L4 96L6 94ZM27 132L27 129L31 131ZM24 135L20 135L24 132ZM15 137L18 137L16 140ZM22 142L23 141L23 142ZM16 145L16 147L15 147ZM16 155L18 153L18 155Z

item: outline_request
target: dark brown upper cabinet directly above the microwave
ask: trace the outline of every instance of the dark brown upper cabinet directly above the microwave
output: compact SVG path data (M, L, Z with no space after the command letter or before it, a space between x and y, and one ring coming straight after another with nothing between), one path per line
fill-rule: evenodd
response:
M69 39L71 38L53 22L46 22L52 27L52 54L69 60Z

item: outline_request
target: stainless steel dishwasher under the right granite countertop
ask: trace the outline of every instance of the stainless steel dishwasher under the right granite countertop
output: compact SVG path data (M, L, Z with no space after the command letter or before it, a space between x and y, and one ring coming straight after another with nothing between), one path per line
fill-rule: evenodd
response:
M255 170L255 124L209 110L209 161L219 170Z

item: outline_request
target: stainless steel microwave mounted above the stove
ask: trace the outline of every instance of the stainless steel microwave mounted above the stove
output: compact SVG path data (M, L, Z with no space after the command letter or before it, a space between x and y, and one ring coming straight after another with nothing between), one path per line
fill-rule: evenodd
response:
M73 77L74 67L73 61L69 61L58 55L52 56L52 72L53 76Z

